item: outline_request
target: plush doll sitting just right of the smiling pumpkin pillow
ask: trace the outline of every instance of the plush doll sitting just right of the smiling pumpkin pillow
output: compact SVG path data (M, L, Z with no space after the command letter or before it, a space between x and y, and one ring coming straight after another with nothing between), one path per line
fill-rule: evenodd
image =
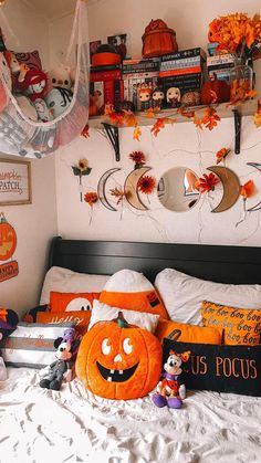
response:
M186 387L181 381L181 364L188 361L190 350L177 354L170 350L169 357L164 365L165 372L163 380L158 382L157 392L153 394L153 402L157 407L169 407L180 409L182 400L186 398Z

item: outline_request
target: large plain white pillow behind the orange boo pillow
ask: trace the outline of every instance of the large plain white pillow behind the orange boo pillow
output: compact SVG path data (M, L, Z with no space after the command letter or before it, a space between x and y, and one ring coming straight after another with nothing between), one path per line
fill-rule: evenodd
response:
M215 283L165 269L155 280L155 287L175 322L201 324L201 301L241 308L261 308L261 285Z

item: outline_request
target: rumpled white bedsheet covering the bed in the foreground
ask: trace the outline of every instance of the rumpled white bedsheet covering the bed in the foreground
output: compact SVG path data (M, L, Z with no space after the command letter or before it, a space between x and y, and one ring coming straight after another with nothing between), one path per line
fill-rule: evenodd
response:
M1 463L261 462L261 398L189 392L180 410L149 397L101 399L76 379L39 387L36 370L0 382Z

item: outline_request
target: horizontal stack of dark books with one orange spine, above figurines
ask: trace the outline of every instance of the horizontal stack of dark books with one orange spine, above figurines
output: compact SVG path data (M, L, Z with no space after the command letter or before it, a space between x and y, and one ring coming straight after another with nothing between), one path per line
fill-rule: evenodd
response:
M181 95L200 92L206 57L199 46L161 56L159 77L165 94L170 87L178 87Z

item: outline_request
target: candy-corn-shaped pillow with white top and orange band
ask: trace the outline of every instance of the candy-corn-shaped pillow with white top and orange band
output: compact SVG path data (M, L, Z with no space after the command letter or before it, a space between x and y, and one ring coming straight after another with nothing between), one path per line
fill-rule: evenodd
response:
M121 270L105 283L100 302L113 307L147 312L169 318L168 313L153 284L143 273Z

